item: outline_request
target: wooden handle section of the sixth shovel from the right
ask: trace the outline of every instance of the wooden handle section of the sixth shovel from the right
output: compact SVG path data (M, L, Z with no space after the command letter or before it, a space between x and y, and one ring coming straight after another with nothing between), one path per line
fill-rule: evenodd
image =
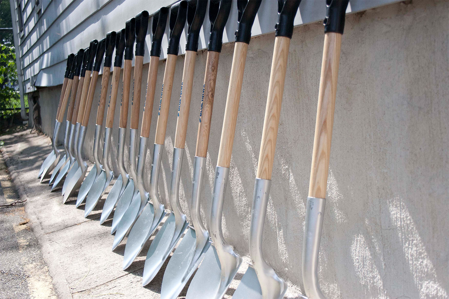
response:
M172 97L173 78L175 77L176 55L168 54L165 62L164 80L162 83L161 101L159 103L158 123L156 125L156 136L154 143L164 144L165 132L167 130L168 108Z

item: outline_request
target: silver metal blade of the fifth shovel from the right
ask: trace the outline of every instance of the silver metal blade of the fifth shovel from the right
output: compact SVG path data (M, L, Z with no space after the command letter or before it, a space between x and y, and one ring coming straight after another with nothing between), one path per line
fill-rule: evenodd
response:
M187 221L184 221L182 228L176 230L175 215L173 213L168 215L167 220L151 242L150 249L148 249L143 269L142 286L149 284L159 272L159 269L161 269L164 261L172 253L187 225Z

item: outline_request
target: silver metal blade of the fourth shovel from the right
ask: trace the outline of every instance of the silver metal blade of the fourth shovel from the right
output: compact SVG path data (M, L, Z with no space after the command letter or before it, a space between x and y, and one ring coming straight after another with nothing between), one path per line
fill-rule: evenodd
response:
M187 229L165 269L161 286L161 299L176 299L178 297L202 261L210 245L211 243L207 241L204 247L197 248L195 230L190 227Z

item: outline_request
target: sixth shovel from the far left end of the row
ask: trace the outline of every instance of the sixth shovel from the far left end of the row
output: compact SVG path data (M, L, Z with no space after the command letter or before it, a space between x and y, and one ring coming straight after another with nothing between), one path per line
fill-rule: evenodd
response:
M68 183L68 185L66 192L64 193L63 203L65 203L67 199L73 194L73 192L75 192L79 188L79 186L81 186L81 183L83 182L87 172L87 163L83 160L82 149L84 139L86 137L86 130L89 122L90 112L92 110L93 95L95 94L95 88L97 87L98 72L100 71L101 61L103 60L103 54L105 52L105 41L106 39L101 39L101 41L97 45L97 49L95 51L96 52L95 65L92 68L92 78L90 80L87 97L84 102L84 113L82 115L81 127L79 129L79 137L77 144L77 154L80 167L76 170L76 173L74 174L73 177L70 178L69 181L66 180L66 182L64 182ZM83 102L81 102L81 104L83 104Z

